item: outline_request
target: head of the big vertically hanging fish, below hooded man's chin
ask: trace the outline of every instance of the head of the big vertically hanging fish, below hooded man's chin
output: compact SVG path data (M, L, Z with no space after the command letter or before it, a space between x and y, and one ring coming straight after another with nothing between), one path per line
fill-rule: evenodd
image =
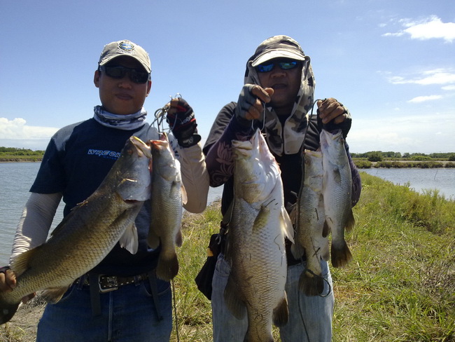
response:
M260 130L251 139L232 142L235 159L235 193L248 203L261 203L272 193L279 166Z

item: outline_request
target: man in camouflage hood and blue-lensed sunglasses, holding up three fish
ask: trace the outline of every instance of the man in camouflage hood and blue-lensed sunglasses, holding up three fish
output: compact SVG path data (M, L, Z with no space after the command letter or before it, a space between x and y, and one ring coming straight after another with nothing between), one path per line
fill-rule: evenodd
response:
M239 99L237 103L225 105L218 113L203 149L210 185L224 185L223 215L228 212L234 198L233 139L250 139L257 128L265 133L267 145L281 169L284 203L290 211L300 191L302 147L316 151L322 128L329 131L341 129L346 137L351 127L351 116L333 98L318 101L317 114L307 120L314 104L314 86L310 58L289 36L273 36L263 41L248 59ZM350 157L349 162L353 179L351 205L355 205L360 196L360 176ZM246 317L237 320L225 305L223 292L230 265L225 261L221 248L211 283L214 341L241 342L244 341L248 322ZM230 252L232 249L235 250L235 246L230 246ZM317 296L307 296L300 292L298 286L306 261L294 259L289 249L290 242L286 240L289 313L288 322L279 327L281 341L330 341L334 296L328 263L321 259L324 289Z

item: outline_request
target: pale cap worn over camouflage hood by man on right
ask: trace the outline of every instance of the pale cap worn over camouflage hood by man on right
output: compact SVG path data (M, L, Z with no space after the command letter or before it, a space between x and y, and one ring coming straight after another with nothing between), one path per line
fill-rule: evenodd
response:
M259 64L273 60L274 58L290 58L291 60L305 60L305 54L299 43L289 36L272 36L262 41L256 49L251 65L257 67Z

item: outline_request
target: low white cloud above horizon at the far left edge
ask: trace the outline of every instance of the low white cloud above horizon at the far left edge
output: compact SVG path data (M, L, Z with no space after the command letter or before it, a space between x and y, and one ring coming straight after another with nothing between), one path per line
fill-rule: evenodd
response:
M58 128L29 126L23 118L0 118L0 139L49 139Z

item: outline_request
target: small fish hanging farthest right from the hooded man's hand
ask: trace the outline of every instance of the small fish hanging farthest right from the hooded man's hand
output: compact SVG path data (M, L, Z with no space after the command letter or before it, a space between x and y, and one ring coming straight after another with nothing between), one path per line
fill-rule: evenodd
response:
M354 225L351 207L352 177L342 131L321 132L324 169L323 197L325 219L332 233L332 265L345 266L352 255L344 240L344 231Z

